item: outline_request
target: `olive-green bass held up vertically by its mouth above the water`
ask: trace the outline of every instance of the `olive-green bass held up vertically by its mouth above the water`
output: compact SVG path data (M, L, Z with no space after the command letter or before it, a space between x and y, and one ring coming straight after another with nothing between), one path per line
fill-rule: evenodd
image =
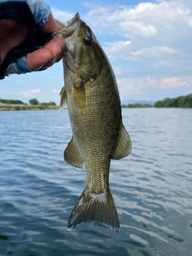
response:
M65 86L60 109L68 107L71 140L63 154L67 164L86 167L87 183L71 212L68 230L91 221L120 232L109 185L111 159L128 156L132 142L122 123L121 103L112 66L91 28L79 13L54 34L66 46Z

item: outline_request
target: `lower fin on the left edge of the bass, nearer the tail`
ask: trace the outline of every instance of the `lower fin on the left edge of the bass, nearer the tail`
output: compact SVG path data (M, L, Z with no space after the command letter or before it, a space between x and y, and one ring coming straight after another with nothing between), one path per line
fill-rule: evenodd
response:
M64 160L67 164L81 170L83 166L83 160L75 146L73 136L64 152Z

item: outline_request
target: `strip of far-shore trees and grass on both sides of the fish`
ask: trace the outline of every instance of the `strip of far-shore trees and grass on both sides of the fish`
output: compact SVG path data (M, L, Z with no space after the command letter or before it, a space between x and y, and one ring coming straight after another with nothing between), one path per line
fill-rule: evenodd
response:
M4 110L56 110L59 106L55 102L41 102L37 99L30 99L30 105L20 100L1 99L0 98L0 111ZM186 96L179 96L177 98L166 98L158 100L154 105L148 103L135 103L121 105L121 108L192 108L192 94Z

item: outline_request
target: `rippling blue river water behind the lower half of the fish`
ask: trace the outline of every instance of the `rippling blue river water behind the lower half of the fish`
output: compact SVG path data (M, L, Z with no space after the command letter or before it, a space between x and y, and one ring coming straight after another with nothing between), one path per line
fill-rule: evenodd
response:
M67 110L0 112L0 255L192 255L192 109L122 109L133 143L112 160L120 234L68 231L86 171L63 161Z

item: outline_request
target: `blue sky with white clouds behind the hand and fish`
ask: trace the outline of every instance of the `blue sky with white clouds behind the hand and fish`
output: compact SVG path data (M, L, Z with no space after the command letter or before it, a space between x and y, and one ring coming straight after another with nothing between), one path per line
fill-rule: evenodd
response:
M192 1L46 1L55 18L76 12L94 31L114 69L121 101L192 93ZM59 103L62 61L0 81L0 98Z

